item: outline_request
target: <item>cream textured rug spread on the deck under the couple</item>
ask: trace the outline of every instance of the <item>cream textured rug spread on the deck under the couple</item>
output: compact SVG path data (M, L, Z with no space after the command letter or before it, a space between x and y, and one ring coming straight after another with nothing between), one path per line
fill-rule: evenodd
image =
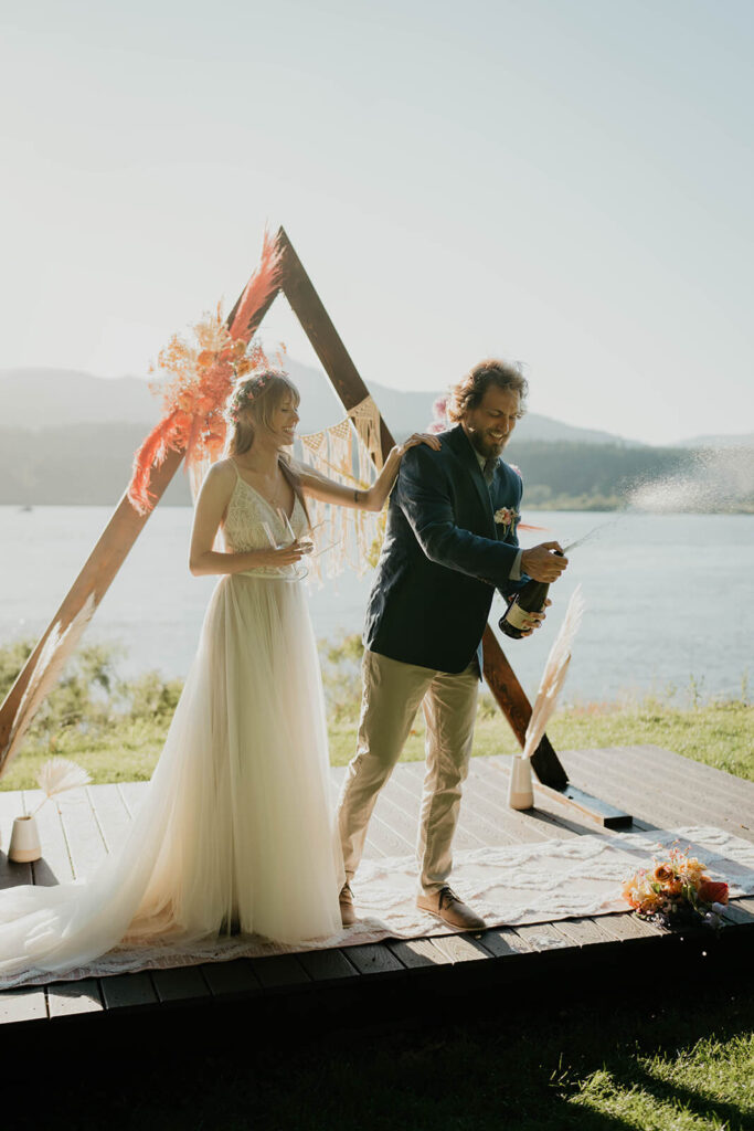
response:
M727 881L731 898L754 895L754 844L708 827L615 832L609 837L581 836L459 852L454 855L452 884L491 927L607 915L629 909L621 898L622 881L647 865L653 854L673 845L684 849L691 846L692 854L707 865L712 879ZM417 910L414 857L364 861L353 888L359 921L329 939L312 939L291 947L254 935L234 935L194 940L183 946L172 940L164 946L153 943L148 949L123 947L66 974L29 970L23 982L40 985L234 958L329 950L389 938L424 939L456 933ZM0 979L0 987L3 984ZM19 984L17 976L12 984Z

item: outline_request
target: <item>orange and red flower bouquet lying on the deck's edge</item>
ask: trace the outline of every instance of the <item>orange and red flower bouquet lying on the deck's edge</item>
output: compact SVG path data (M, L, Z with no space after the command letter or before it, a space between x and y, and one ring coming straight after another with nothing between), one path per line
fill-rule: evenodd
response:
M640 918L668 929L720 925L728 903L728 884L704 874L704 864L688 852L671 848L664 860L652 857L623 886L623 898Z

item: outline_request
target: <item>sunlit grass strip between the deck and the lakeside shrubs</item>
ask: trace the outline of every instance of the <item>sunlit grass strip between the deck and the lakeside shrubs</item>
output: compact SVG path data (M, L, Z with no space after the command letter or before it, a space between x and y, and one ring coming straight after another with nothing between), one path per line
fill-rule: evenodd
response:
M40 765L52 754L72 758L94 782L142 782L151 776L167 733L168 716L111 720L93 736L63 729L49 743L29 743L0 780L0 789L35 787ZM339 715L329 727L330 761L345 766L354 754L357 722ZM649 697L640 702L586 703L564 708L548 728L556 750L653 743L686 758L754 780L754 706L743 700L716 701L687 709ZM474 754L512 754L519 749L508 723L487 699L477 718ZM421 713L406 743L404 759L424 758Z

